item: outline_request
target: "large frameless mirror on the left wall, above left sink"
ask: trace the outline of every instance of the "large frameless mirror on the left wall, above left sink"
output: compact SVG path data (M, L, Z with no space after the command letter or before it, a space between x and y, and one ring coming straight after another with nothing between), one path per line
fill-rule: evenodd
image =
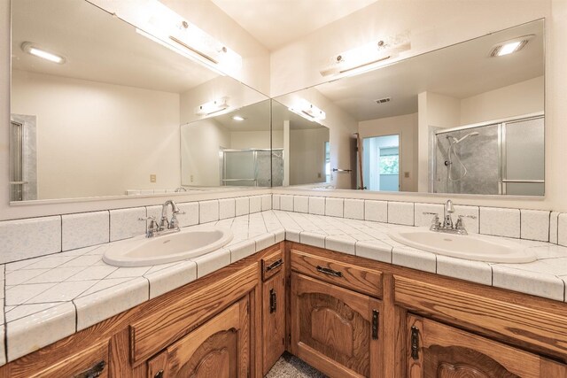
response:
M269 112L260 144L237 143L236 125L214 145L180 126L267 100L87 1L12 0L11 200L218 188L183 146L214 155L218 174L219 148L269 149Z

